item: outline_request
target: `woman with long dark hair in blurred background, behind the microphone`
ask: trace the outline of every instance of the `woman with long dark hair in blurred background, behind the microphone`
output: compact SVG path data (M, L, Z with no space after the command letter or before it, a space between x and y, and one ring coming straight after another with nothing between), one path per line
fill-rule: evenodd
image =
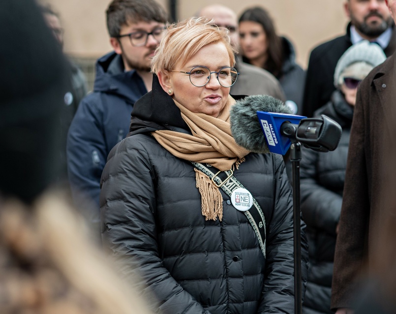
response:
M276 33L266 9L256 6L244 10L239 18L242 60L273 74L286 94L286 105L301 114L305 71L296 62L291 41Z

